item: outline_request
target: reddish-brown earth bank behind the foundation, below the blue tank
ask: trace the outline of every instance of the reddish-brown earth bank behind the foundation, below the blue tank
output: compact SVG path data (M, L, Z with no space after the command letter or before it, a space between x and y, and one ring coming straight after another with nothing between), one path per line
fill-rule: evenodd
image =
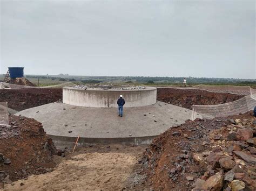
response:
M62 88L0 89L0 102L17 111L62 100Z

